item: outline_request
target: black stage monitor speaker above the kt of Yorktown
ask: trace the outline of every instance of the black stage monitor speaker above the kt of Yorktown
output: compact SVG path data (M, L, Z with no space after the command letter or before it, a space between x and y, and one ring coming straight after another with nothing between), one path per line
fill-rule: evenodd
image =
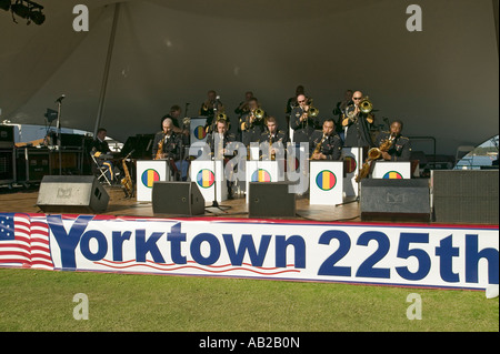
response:
M154 214L204 214L204 198L196 182L154 182L152 189Z

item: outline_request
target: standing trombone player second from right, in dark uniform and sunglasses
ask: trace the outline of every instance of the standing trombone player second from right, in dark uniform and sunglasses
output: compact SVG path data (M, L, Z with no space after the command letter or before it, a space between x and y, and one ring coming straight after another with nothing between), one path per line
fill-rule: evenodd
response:
M309 142L309 138L311 136L314 129L320 127L318 115L311 117L312 99L308 99L303 93L297 97L296 107L290 114L290 127L293 129L293 142Z

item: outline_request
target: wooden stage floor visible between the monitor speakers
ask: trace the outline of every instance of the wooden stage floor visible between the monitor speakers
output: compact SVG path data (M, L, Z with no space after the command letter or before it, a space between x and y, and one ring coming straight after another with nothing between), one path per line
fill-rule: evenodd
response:
M152 204L150 202L138 202L136 198L127 199L120 186L106 188L110 196L106 215L114 216L138 216L138 218L169 218L168 214L153 214ZM37 206L38 186L30 189L0 188L0 213L42 213ZM211 208L211 203L207 203L204 216L208 218L249 218L248 206L244 195L238 195L233 200L227 200L219 203L223 210ZM329 205L310 205L307 196L297 199L296 218L287 218L293 220L312 220L321 222L359 222L360 206L357 201L344 203L338 206ZM200 218L203 215L197 215Z

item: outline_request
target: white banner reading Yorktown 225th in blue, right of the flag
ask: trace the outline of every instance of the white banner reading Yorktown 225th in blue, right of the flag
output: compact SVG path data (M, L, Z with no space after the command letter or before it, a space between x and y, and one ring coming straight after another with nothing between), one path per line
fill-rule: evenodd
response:
M499 283L498 226L92 215L32 215L31 223L47 223L56 270L452 289Z

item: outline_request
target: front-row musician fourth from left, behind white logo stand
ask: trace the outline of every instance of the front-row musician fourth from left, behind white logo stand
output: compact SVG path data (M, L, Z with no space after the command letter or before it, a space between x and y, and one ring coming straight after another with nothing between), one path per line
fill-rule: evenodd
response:
M333 119L323 122L322 130L316 130L309 142L311 160L339 161L342 154L342 140L336 132Z

